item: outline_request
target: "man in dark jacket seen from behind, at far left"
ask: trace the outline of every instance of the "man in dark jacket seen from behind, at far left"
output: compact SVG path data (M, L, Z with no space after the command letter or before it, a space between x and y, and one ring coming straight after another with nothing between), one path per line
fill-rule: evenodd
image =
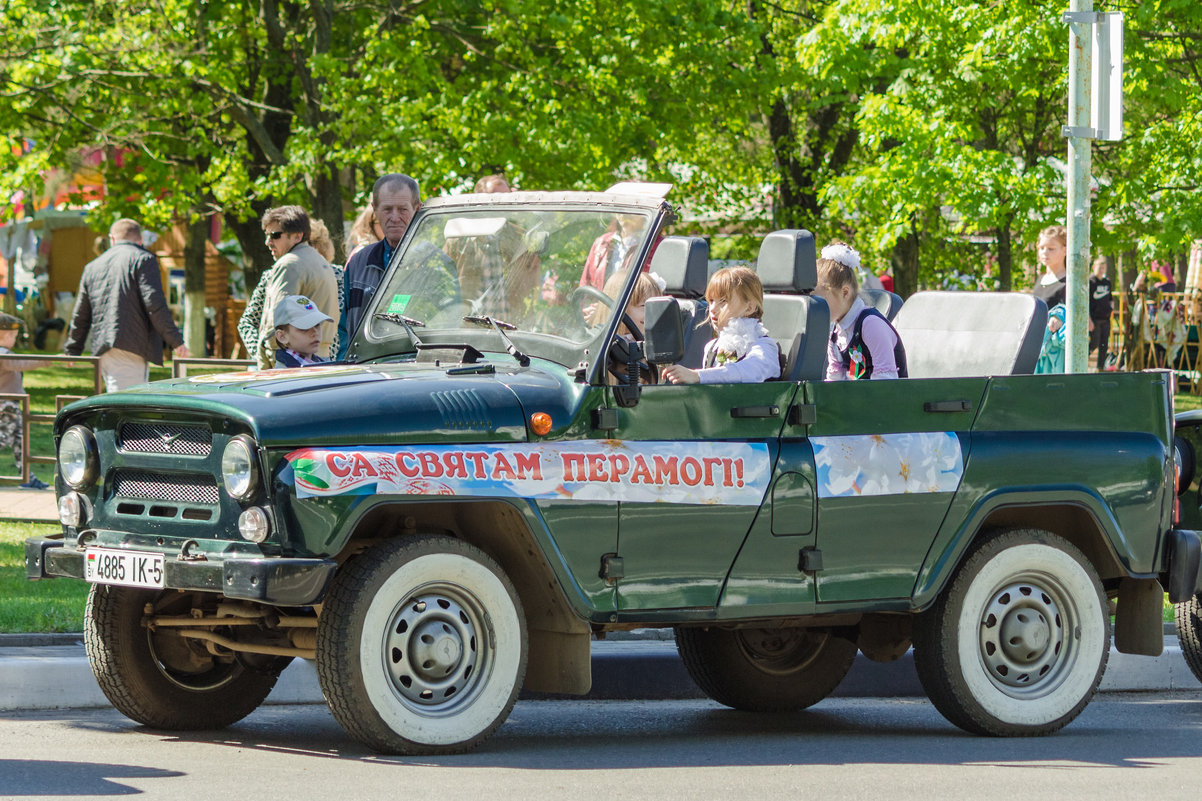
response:
M121 219L108 230L113 245L83 268L71 331L63 352L78 356L91 334L107 392L145 384L150 366L162 363L166 340L188 357L184 336L167 308L159 260L142 247L142 226Z

